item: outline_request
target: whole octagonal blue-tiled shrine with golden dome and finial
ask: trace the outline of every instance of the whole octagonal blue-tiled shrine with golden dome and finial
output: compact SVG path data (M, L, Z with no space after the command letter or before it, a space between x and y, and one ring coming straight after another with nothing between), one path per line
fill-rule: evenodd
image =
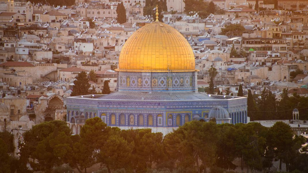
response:
M87 118L98 116L108 126L151 128L165 135L188 121L205 120L216 106L228 118L245 115L233 124L247 122L247 98L198 92L192 48L180 32L158 20L128 38L115 71L116 92L67 97L67 123L73 133L79 133Z

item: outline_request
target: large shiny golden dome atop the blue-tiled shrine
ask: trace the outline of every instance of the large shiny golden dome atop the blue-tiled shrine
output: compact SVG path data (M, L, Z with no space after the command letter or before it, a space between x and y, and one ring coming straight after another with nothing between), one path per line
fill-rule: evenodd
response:
M180 32L161 22L136 30L123 45L118 71L196 71L195 56Z

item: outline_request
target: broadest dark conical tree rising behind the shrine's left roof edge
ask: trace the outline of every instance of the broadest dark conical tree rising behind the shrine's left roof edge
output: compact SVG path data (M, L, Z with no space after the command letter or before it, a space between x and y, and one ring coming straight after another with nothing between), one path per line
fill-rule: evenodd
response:
M89 78L86 72L80 72L78 76L75 77L73 92L71 96L82 96L89 94L89 88L91 87L89 83Z

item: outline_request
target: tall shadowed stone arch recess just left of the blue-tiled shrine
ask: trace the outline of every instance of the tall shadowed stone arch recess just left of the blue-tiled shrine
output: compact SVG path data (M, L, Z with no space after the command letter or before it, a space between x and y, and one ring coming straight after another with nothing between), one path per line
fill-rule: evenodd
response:
M63 109L62 97L57 94L49 96L47 106L48 107L44 111L44 120L45 121L55 120L56 109Z

